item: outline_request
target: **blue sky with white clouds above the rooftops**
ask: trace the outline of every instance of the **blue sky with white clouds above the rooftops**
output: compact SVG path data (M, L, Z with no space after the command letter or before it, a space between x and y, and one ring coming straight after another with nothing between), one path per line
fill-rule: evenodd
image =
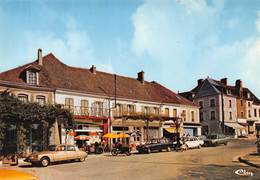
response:
M0 72L38 48L174 92L242 79L260 97L260 0L0 0Z

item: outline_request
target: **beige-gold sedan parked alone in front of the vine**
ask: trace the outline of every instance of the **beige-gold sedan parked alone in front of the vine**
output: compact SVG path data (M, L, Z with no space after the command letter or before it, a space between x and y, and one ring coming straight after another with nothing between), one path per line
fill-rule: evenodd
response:
M49 151L32 153L24 161L47 167L51 162L58 161L78 160L83 162L87 155L86 152L79 150L74 145L50 145Z

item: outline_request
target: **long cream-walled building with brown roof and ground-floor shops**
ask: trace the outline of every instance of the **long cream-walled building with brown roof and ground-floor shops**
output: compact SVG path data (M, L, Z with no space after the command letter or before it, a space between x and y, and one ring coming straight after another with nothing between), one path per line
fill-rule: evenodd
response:
M157 82L145 81L143 71L130 78L97 71L95 66L76 68L51 53L42 57L38 50L37 60L1 73L0 79L2 89L10 84L22 101L55 103L69 109L76 122L71 128L76 136L100 141L108 132L127 133L129 143L139 144L172 137L178 131L201 134L199 107ZM60 127L59 131L60 143L68 143L68 129Z

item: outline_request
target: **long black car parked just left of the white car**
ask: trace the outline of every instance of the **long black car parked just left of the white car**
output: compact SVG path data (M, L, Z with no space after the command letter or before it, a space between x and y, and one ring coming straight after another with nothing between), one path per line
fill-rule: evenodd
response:
M136 147L139 153L151 153L152 151L171 151L174 149L174 144L168 139L152 139L149 142L138 145Z

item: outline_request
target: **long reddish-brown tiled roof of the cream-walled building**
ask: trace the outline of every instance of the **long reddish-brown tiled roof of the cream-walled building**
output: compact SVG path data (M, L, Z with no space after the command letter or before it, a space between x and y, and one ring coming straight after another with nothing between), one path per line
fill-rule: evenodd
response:
M30 66L40 69L39 87L114 97L114 74L101 71L96 71L94 74L90 69L67 66L52 53L43 57L42 66L38 65L38 61L36 60L32 63L0 73L0 80L28 86L22 74ZM156 82L145 81L141 83L134 78L116 75L116 87L116 94L119 98L195 106L193 102Z

